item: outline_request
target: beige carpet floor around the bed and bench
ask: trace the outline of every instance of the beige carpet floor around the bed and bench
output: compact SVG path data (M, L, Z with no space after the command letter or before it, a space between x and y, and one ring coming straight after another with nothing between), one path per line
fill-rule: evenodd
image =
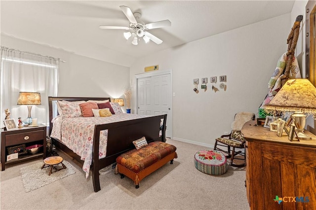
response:
M43 163L41 158L10 164L0 172L1 210L249 210L244 186L245 168L229 166L221 176L198 171L194 155L206 147L175 140L178 158L140 182L120 179L114 171L100 176L101 190L93 191L92 177L61 151L76 173L39 189L25 192L20 168Z

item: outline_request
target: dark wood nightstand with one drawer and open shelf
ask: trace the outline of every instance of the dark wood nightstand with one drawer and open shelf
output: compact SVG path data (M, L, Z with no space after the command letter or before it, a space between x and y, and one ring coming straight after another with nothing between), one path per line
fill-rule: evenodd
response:
M6 155L8 155L7 148L14 147L16 145L25 144L26 147L32 145L42 145L43 150L36 154L23 154L19 155L17 159L6 161ZM4 131L1 129L1 171L4 171L5 165L11 163L17 163L30 158L36 158L42 156L46 158L46 126L40 124L37 127L22 127L17 130Z

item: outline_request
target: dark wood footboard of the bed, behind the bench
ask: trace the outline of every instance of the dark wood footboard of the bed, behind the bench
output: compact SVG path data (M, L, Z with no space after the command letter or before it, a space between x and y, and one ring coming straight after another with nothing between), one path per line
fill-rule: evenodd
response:
M147 142L165 142L167 115L148 118L99 124L94 127L93 152L92 152L92 180L95 192L101 190L99 170L116 162L116 158L134 149L133 141L145 136ZM162 121L162 126L161 126ZM101 130L108 130L106 157L99 159L99 137ZM159 131L161 130L161 135Z

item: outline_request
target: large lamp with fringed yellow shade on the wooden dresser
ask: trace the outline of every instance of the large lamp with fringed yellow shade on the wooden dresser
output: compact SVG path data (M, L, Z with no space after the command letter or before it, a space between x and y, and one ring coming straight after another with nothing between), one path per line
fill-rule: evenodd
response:
M299 140L311 139L304 133L304 127L306 115L316 119L316 88L308 79L288 80L264 108L273 115L294 112L291 118L298 129Z

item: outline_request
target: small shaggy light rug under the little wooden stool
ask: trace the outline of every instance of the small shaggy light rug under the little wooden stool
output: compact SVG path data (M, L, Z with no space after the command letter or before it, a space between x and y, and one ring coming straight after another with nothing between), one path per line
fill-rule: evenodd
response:
M53 172L50 176L48 176L50 167L40 169L44 164L43 162L20 168L21 179L25 192L39 189L42 186L53 183L57 180L61 180L69 175L76 173L76 169L70 163L68 163L66 160L64 160L63 163L67 168L57 172ZM61 164L58 164L55 167L57 169L62 168Z

